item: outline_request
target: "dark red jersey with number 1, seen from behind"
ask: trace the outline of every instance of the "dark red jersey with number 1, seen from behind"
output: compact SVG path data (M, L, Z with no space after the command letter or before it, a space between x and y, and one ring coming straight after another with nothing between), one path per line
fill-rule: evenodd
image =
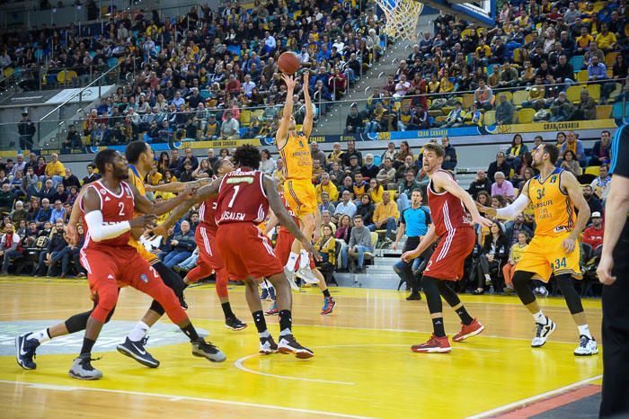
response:
M217 224L261 223L269 212L269 201L261 172L240 169L223 176L218 188Z

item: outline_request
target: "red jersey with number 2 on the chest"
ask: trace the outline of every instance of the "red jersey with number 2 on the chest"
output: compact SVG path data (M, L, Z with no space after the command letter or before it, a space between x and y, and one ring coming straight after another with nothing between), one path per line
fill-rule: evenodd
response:
M102 221L104 223L120 223L121 221L130 221L133 218L134 198L128 183L120 183L120 193L114 193L107 189L100 180L91 183L90 188L98 193L101 199ZM85 230L84 249L97 248L99 246L118 247L128 245L128 239L131 236L130 230L118 237L94 242L90 239L90 231L85 222L85 212L83 201L80 202L81 211L83 211L83 225Z

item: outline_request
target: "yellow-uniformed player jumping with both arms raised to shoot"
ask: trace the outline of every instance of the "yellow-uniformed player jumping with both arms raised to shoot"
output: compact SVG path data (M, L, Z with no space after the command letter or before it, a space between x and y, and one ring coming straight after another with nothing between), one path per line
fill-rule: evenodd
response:
M316 192L312 182L313 158L310 155L308 138L313 130L313 106L308 92L308 72L303 74L303 93L306 103L306 117L301 131L297 131L297 124L293 117L293 93L297 82L293 76L282 74L282 79L287 86L286 103L282 119L279 121L279 129L275 136L275 144L279 149L279 156L284 161L284 194L288 206L299 218L299 226L306 237L318 238L318 231L314 228L316 214ZM299 259L299 269L295 272L295 264ZM288 278L293 274L306 282L317 283L319 280L310 269L308 252L296 239L290 249L288 263L284 269Z

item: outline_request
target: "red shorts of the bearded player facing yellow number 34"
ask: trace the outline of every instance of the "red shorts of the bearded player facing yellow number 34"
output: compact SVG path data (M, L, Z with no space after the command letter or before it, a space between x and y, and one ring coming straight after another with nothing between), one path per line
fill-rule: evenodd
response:
M475 243L476 235L472 227L455 228L448 232L441 237L424 275L447 281L463 279L465 258L472 253Z

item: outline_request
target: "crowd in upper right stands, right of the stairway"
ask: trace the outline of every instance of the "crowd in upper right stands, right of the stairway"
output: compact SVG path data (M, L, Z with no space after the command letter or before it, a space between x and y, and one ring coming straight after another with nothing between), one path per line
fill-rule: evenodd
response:
M629 97L628 12L625 1L505 2L481 28L442 10L346 132L610 118L607 103Z

